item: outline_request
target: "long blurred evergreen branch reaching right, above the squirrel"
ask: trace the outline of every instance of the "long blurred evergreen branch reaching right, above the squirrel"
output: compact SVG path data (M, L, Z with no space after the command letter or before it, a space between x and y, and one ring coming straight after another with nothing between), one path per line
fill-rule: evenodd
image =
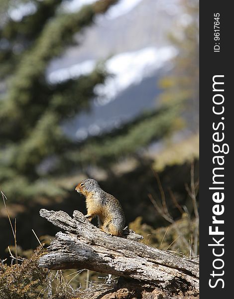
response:
M118 134L107 134L105 140L90 140L79 150L69 152L67 161L108 165L117 161L118 157L136 153L152 141L171 133L172 128L181 129L182 124L177 126L176 123L179 111L180 105L175 105L173 108L163 107L156 112L145 113L132 123L126 124Z

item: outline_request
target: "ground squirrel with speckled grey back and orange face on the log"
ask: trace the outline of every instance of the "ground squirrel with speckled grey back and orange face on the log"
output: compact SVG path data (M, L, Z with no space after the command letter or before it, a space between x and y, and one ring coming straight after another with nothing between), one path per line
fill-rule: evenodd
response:
M103 191L95 179L85 179L76 186L76 191L85 195L87 215L91 221L98 216L99 228L114 236L122 236L125 217L119 201Z

